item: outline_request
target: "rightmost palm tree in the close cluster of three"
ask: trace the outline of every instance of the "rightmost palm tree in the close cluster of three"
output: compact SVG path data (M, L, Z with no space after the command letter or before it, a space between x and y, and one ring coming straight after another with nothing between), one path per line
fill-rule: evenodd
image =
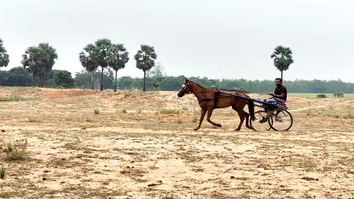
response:
M114 92L117 91L117 72L129 61L129 52L124 44L112 44L109 50L108 65L115 70Z

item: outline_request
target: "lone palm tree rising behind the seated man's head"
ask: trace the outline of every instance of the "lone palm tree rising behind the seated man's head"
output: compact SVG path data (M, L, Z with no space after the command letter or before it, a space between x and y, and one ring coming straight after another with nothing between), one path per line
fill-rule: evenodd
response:
M283 79L283 71L289 69L290 64L294 63L291 49L281 45L276 46L270 58L273 59L274 66L281 72L281 79Z

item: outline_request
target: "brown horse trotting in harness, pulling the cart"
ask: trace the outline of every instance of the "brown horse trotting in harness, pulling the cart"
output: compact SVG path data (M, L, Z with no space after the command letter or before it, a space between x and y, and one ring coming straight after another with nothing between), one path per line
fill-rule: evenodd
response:
M213 113L214 109L227 108L230 106L239 114L240 117L239 127L235 129L235 131L239 131L241 129L242 123L244 122L245 119L246 119L246 127L255 130L252 127L252 121L256 120L255 113L254 113L255 104L253 103L253 101L242 99L242 98L231 97L223 93L218 93L215 92L215 89L207 89L202 87L199 84L196 84L192 81L185 79L181 87L181 90L179 90L179 92L177 93L177 96L183 97L184 95L191 94L191 93L193 93L194 96L198 99L199 106L201 108L199 125L194 129L195 131L200 129L200 125L204 119L206 112L208 112L208 115L206 116L206 120L214 126L221 127L221 124L214 123L213 121L210 120L211 114ZM249 97L245 93L239 91L228 91L228 93ZM248 105L248 110L250 113L247 113L243 110L246 104ZM251 118L250 118L250 125L249 125L248 121L250 115Z

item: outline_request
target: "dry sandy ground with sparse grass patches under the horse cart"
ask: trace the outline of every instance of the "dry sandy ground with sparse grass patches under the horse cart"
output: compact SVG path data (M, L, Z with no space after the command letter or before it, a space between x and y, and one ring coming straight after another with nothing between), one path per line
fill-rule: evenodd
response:
M0 102L0 198L354 197L349 99L289 98L291 129L256 132L234 131L231 108L213 112L221 128L205 119L193 131L198 102L177 92L0 87L1 97L26 100Z

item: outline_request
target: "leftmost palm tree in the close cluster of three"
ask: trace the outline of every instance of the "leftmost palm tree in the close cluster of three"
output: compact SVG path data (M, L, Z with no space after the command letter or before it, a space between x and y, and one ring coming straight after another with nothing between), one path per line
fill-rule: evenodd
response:
M79 53L79 61L81 65L86 69L87 72L91 73L91 89L95 90L95 85L93 84L93 73L98 68L98 61L96 59L97 47L93 44L87 44L84 47L84 51Z

